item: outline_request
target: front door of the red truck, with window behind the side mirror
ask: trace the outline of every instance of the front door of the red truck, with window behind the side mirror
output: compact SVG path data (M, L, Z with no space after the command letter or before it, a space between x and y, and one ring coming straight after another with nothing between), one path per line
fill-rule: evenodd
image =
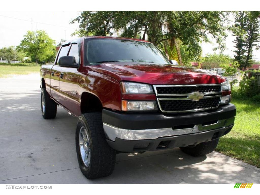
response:
M68 56L74 56L76 63L80 63L80 47L79 42L71 42ZM79 72L77 68L62 67L60 77L60 90L64 95L61 104L73 114L78 114L80 111L78 79Z

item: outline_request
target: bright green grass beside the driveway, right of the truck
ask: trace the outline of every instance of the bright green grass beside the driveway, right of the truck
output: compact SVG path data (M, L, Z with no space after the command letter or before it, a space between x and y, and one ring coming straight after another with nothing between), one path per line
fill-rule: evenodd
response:
M235 126L219 140L216 151L260 168L260 104L232 99L237 107Z

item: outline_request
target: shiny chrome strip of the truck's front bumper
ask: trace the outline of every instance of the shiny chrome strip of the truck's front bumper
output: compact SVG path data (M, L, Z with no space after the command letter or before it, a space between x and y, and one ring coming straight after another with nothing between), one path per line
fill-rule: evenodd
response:
M166 136L184 135L191 133L198 133L203 131L209 131L221 127L228 127L233 125L235 117L229 119L219 120L216 123L210 125L194 125L192 128L187 129L173 129L173 128L163 128L163 129L122 129L114 127L107 123L103 123L104 131L108 139L115 141L116 138L124 140L147 140L147 139L157 139ZM184 124L185 125L185 124Z

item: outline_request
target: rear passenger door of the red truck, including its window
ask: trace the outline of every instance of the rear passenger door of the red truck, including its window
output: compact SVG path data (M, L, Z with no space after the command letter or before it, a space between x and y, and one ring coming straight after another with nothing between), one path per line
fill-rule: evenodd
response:
M61 93L61 90L60 90L60 76L61 76L62 67L59 66L58 62L59 62L60 57L68 55L69 48L70 48L69 44L61 47L57 60L54 64L54 66L52 67L51 73L50 73L51 95L59 103L61 103L63 100L63 94Z

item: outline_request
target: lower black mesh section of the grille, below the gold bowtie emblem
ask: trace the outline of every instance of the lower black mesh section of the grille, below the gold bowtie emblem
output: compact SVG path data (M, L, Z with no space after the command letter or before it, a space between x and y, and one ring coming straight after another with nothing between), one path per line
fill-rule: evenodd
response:
M211 97L200 99L199 101L192 100L163 100L160 99L160 107L165 112L178 111L196 111L201 109L215 108L219 105L220 97Z

